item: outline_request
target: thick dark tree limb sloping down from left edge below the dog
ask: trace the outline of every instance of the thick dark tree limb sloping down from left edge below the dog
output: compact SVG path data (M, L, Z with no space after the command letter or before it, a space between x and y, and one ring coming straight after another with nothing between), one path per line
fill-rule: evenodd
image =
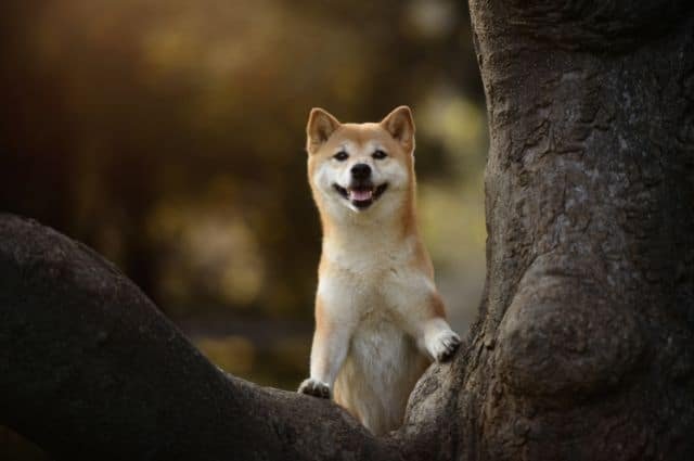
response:
M62 459L380 459L335 405L209 363L117 269L0 215L0 423Z

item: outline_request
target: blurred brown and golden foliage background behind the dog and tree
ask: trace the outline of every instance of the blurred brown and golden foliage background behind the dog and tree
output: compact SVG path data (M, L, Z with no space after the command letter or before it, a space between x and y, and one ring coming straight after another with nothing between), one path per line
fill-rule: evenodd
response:
M465 329L487 135L464 2L3 0L0 30L0 210L114 260L222 368L307 372L312 106L413 107L423 233Z

